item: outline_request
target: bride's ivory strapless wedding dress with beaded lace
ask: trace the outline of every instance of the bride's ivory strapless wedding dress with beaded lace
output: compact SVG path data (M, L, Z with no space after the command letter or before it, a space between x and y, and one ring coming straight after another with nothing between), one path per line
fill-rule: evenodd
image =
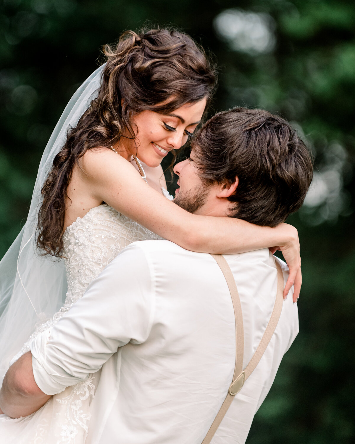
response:
M29 350L30 342L39 332L55 325L62 316L65 316L71 305L83 296L91 281L121 250L131 242L147 239L161 238L106 204L92 208L83 218L77 218L71 226L68 226L63 234L65 256L63 261L68 282L64 305L52 319L37 327L14 360ZM84 443L91 416L90 404L95 394L99 373L52 396L32 415L19 419L0 415L1 443Z

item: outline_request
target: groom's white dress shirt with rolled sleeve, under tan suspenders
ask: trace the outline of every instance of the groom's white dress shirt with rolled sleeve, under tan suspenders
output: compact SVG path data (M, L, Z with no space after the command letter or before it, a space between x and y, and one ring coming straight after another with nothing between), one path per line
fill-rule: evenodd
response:
M268 250L225 258L241 298L245 366L268 324L277 271ZM287 266L281 265L286 281ZM213 444L245 442L297 333L297 305L289 294L264 356ZM36 383L47 394L102 367L86 444L201 444L233 377L235 323L227 283L209 254L169 241L134 242L51 331L36 337L31 351Z

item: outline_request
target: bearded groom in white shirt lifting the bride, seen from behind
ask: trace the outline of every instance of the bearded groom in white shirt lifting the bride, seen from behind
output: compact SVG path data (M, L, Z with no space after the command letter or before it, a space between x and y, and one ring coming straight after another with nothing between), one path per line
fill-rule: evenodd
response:
M312 179L308 150L288 123L243 108L210 119L174 171L175 202L186 210L268 226L300 208ZM267 249L225 258L241 298L245 366L272 312L278 259ZM201 444L232 381L235 328L228 286L209 254L168 241L134 242L12 365L0 407L12 417L29 415L101 369L86 444ZM288 297L214 444L245 442L297 333L297 306Z

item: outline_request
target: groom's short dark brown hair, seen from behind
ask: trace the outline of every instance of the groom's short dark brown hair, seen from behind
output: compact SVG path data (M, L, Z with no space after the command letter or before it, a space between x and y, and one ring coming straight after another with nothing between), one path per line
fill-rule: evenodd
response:
M234 108L209 119L193 138L202 181L233 183L229 216L264 226L298 210L312 181L312 159L286 120L264 110Z

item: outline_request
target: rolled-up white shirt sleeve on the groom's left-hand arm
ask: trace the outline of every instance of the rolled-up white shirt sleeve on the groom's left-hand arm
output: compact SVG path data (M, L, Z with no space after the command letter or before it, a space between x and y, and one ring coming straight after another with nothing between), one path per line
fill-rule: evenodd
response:
M122 251L56 325L31 344L36 384L47 395L87 379L119 347L146 341L154 282L139 242Z

